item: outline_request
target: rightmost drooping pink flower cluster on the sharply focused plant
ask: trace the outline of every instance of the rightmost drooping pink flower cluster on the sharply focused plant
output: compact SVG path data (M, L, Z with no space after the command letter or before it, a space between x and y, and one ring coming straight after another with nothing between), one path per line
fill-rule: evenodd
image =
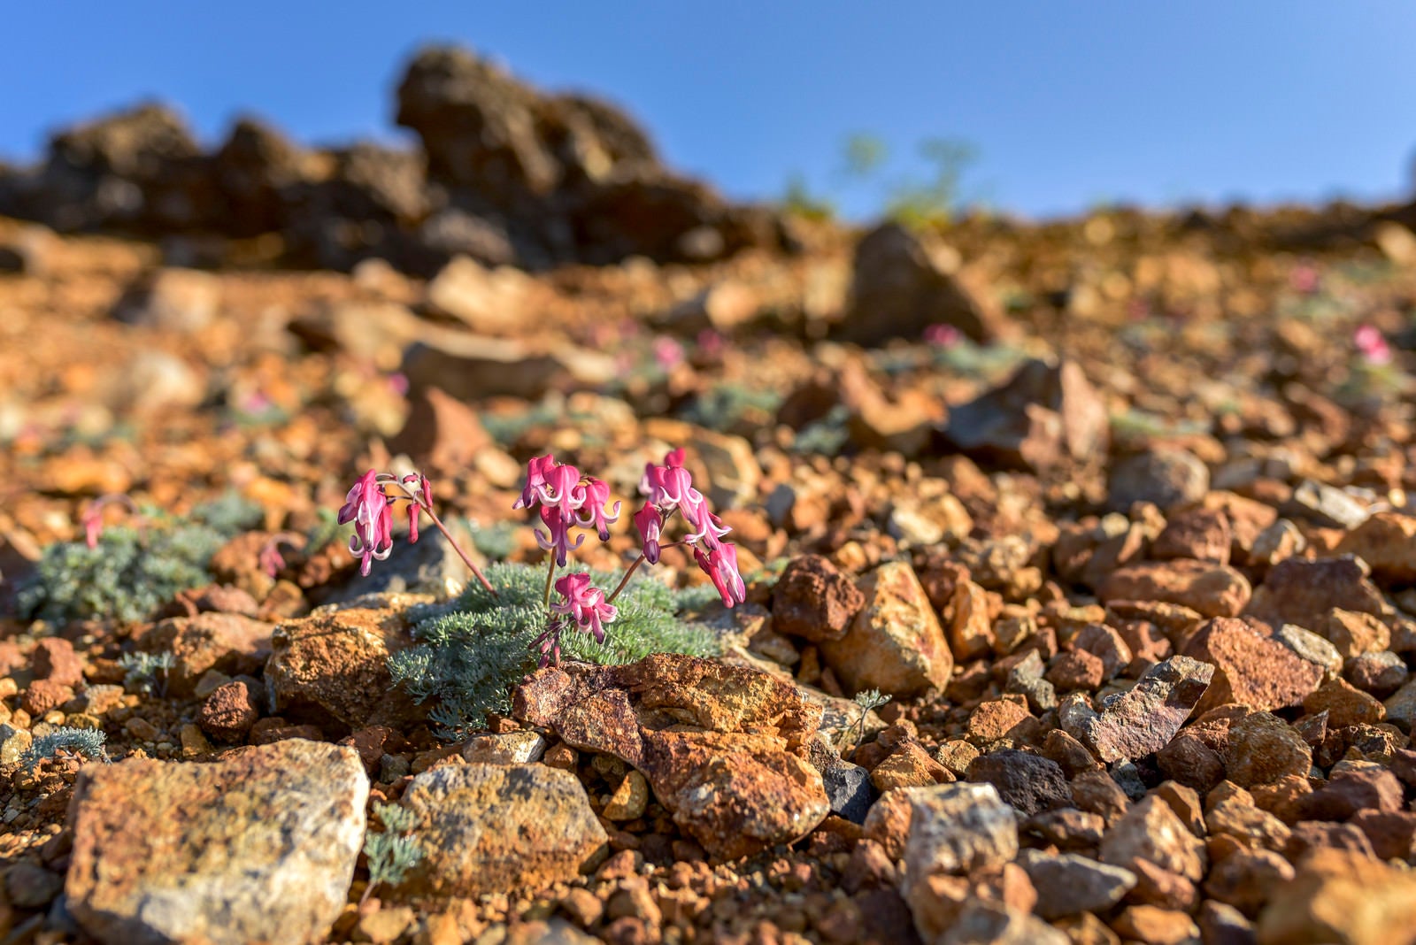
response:
M692 546L694 560L718 589L724 605L732 607L745 601L748 590L738 572L738 547L732 542L721 540L729 529L709 511L708 501L694 488L692 477L684 468L683 448L671 450L663 464L647 464L639 491L647 497L644 506L634 514L634 528L639 529L644 543L644 560L650 564L658 563L664 523L674 512L680 512L688 525L688 533L683 540Z

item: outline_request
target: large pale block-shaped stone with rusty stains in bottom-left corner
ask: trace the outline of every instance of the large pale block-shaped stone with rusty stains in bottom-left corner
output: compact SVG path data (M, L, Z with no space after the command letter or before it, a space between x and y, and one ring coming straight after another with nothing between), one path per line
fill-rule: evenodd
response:
M89 765L69 808L68 908L113 945L323 938L367 795L353 748L299 740L208 764Z

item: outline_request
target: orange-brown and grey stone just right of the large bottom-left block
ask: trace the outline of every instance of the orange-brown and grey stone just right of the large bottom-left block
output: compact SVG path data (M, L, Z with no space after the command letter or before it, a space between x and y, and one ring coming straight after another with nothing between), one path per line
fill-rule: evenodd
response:
M593 869L607 837L579 778L544 764L457 764L404 791L423 859L401 888L473 897L539 890Z

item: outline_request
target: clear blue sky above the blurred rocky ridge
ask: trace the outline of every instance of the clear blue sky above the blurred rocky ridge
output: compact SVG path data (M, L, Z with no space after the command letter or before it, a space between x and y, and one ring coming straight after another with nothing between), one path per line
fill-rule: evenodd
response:
M302 140L396 140L404 62L455 40L538 85L627 106L673 166L736 197L780 195L792 173L833 187L852 132L901 160L920 139L967 140L966 184L1029 215L1413 190L1409 0L6 7L11 160L140 96L178 103L207 141L244 110ZM878 199L841 197L857 214Z

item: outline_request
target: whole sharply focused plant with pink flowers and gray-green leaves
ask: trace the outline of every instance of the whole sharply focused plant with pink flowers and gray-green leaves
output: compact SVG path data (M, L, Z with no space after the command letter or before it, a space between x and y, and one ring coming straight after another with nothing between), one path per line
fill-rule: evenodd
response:
M620 663L654 652L711 654L711 634L678 620L668 587L643 580L632 584L630 579L640 567L657 564L663 549L681 545L691 549L724 605L741 604L746 586L738 572L738 549L722 540L729 529L694 488L683 450L670 451L663 464L647 464L640 491L646 501L633 516L639 557L619 576L573 569L558 576L568 567L569 553L585 545L586 532L609 540L623 502L612 506L609 485L582 475L573 465L556 463L552 456L534 457L513 508L538 506L541 526L535 539L548 552L544 574L523 564L493 564L493 581L443 529L479 586L470 586L457 605L415 625L416 645L389 661L395 683L421 702L438 699L432 720L446 731L460 733L479 726L487 712L504 712L511 685L532 663L558 663L562 655ZM362 557L365 574L372 560L392 550L395 502L408 502L409 540L418 540L422 512L442 528L432 515L430 494L428 480L416 472L394 477L374 470L350 489L338 518L355 525L350 550ZM683 519L684 535L664 542L675 516ZM612 581L613 590L606 594L602 587ZM607 632L610 625L613 635Z

